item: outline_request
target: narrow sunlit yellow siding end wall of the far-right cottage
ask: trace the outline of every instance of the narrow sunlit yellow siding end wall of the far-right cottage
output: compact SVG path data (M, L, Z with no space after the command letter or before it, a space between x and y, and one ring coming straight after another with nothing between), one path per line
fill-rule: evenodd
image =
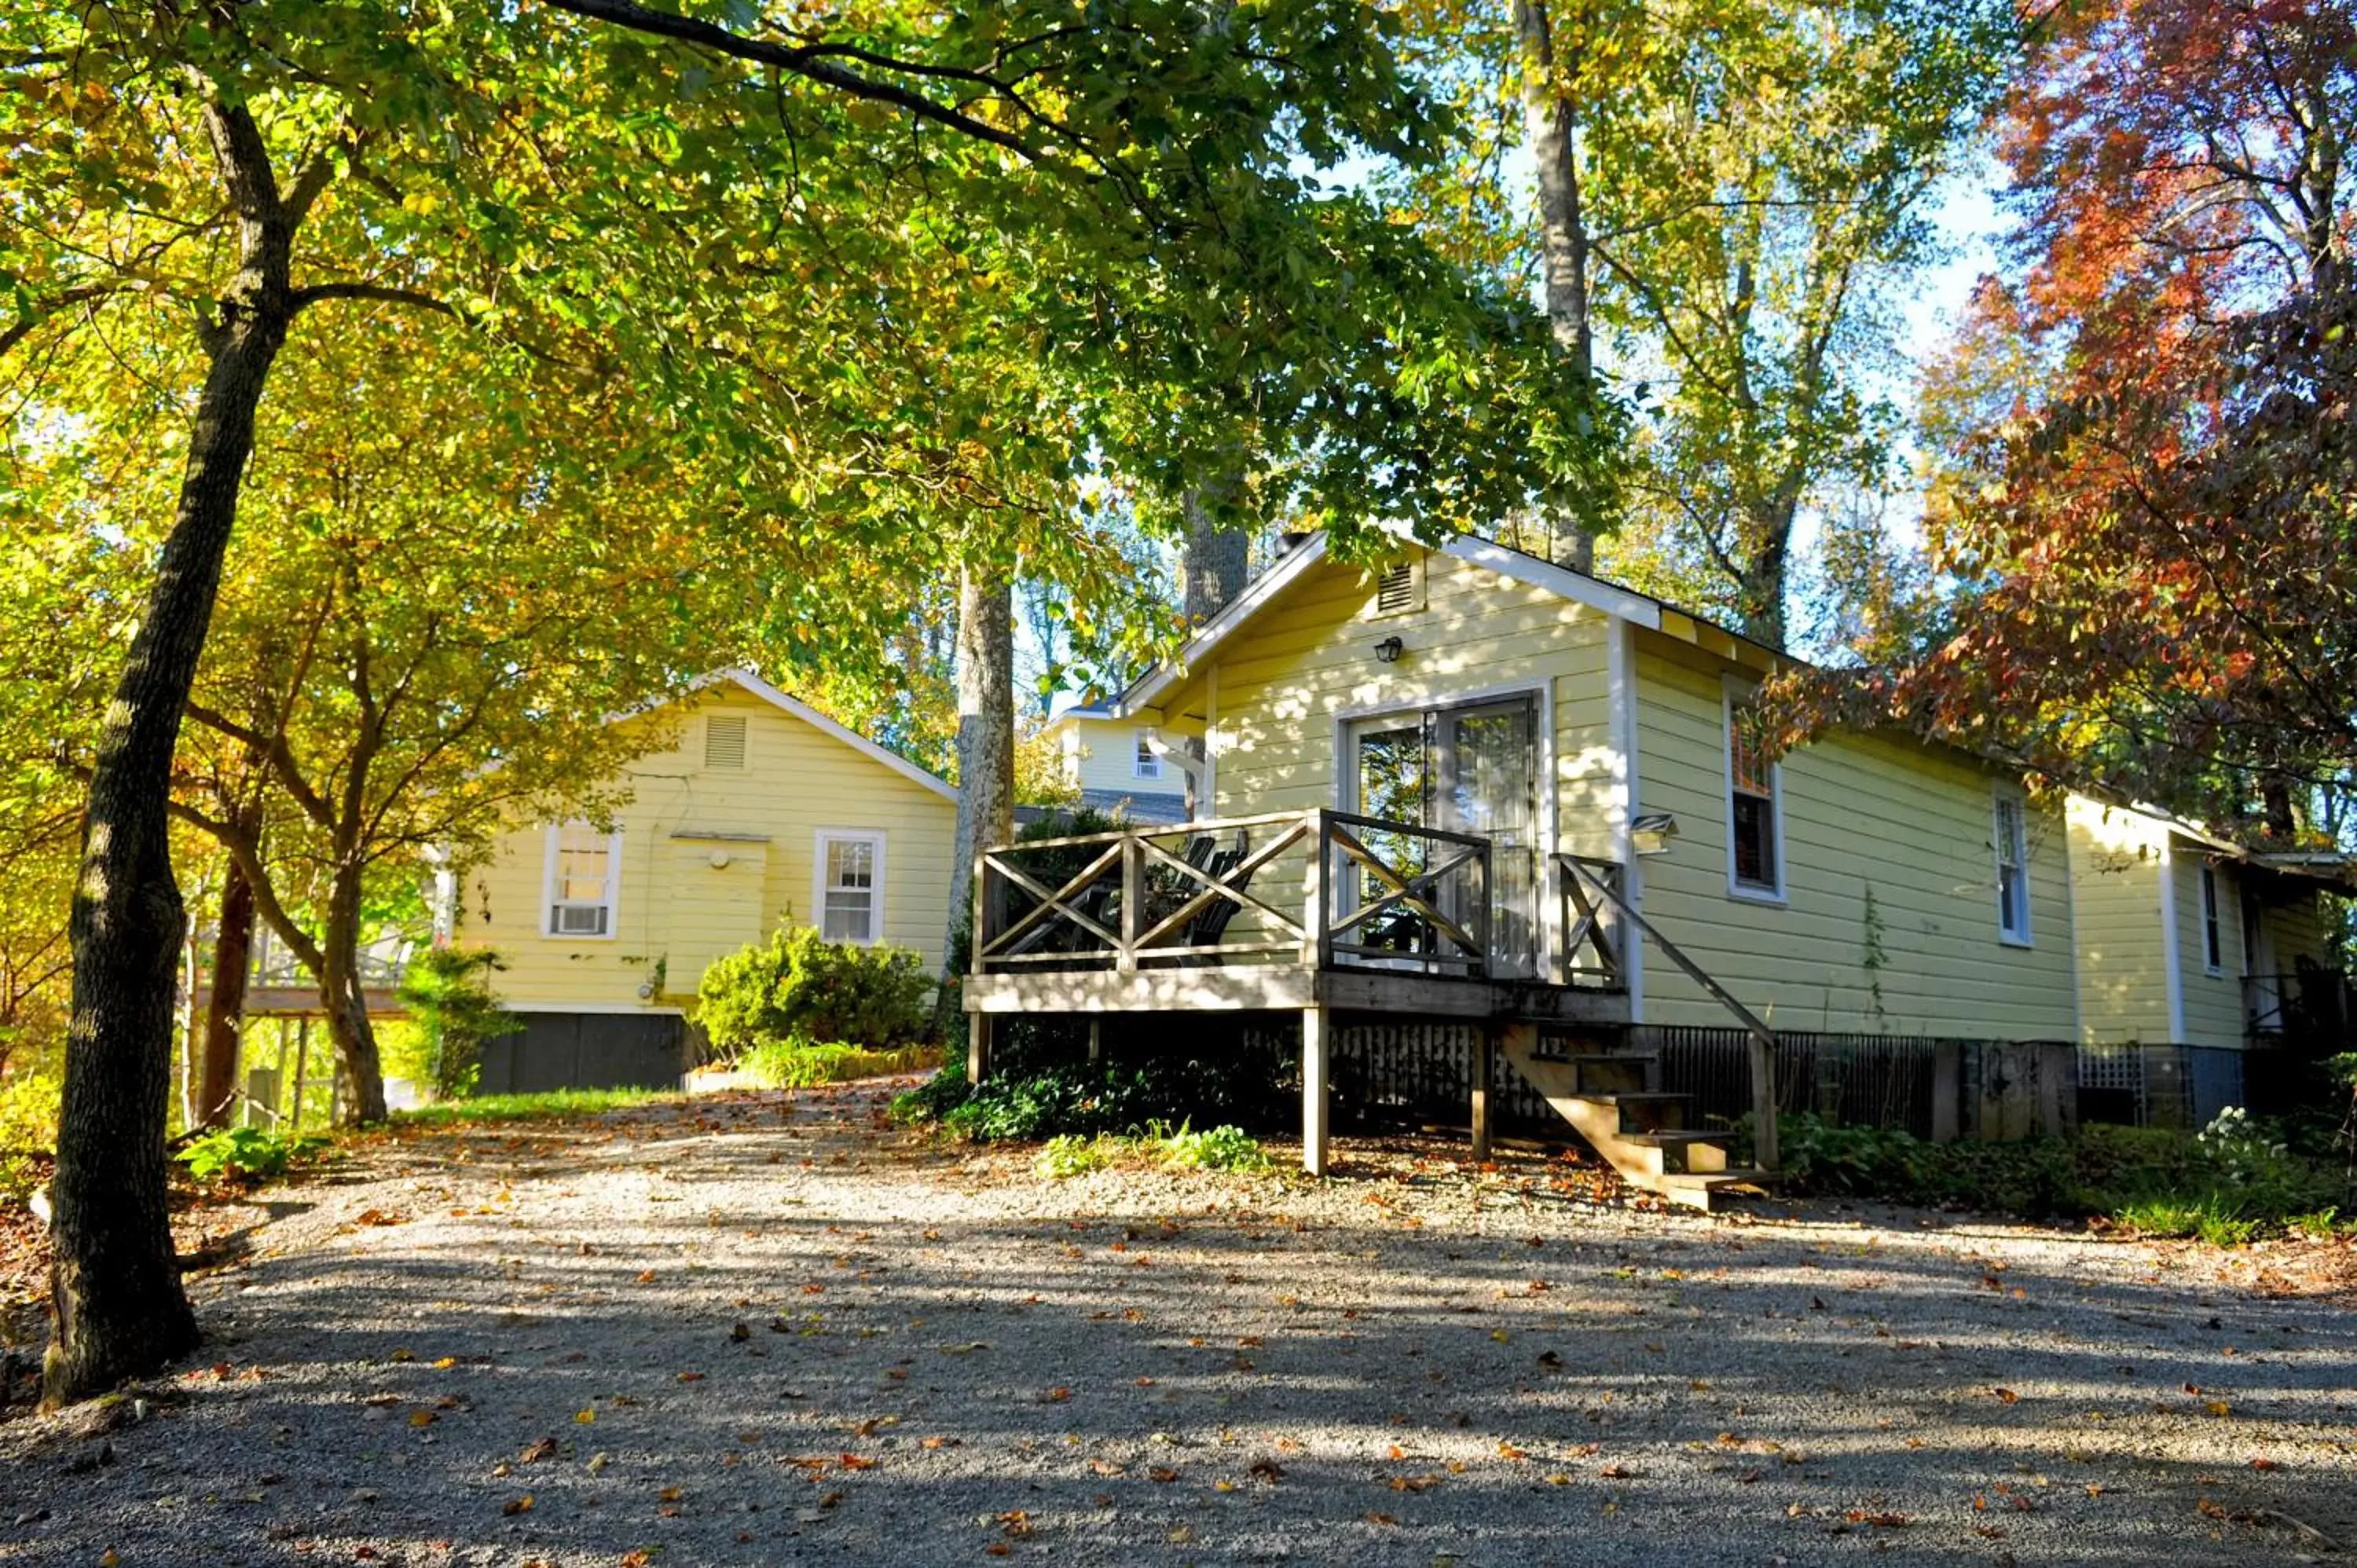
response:
M2072 795L2069 870L2079 927L2079 1035L2091 1045L2164 1042L2168 948L2161 936L2161 849L2168 825Z

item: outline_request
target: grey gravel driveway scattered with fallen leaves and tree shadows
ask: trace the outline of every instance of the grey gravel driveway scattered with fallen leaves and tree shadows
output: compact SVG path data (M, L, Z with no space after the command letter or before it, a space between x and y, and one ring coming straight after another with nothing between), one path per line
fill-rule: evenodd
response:
M0 1427L0 1563L2357 1544L2357 1313L2220 1254L1650 1214L1445 1144L1343 1141L1325 1184L1054 1184L882 1111L853 1087L412 1134L266 1193L247 1259L196 1285L203 1368Z

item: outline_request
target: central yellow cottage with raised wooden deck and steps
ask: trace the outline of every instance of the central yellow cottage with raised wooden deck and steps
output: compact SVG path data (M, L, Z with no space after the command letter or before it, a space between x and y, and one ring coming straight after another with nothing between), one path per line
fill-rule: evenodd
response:
M1497 1056L1706 1200L1725 1139L1631 1028L1744 1030L1754 1096L1801 1035L2077 1037L2062 813L1914 738L1763 757L1775 660L1478 538L1379 575L1296 545L1103 719L1197 738L1214 821L985 856L973 1068L1006 1012L1299 1016L1318 1167L1334 1030L1457 1019L1475 1141Z

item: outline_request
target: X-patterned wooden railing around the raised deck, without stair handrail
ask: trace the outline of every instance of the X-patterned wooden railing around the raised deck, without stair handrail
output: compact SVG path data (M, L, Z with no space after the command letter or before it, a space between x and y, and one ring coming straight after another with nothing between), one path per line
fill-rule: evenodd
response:
M1480 976L1487 948L1490 839L1414 823L1275 811L976 856L973 974L1261 962Z

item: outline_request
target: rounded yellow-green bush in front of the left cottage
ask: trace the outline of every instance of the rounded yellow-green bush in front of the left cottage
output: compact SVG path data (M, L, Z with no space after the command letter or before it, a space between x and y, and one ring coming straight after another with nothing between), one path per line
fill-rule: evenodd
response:
M933 976L907 948L820 941L778 927L768 941L705 967L695 1021L721 1059L766 1040L841 1040L874 1052L915 1045L931 1026Z

